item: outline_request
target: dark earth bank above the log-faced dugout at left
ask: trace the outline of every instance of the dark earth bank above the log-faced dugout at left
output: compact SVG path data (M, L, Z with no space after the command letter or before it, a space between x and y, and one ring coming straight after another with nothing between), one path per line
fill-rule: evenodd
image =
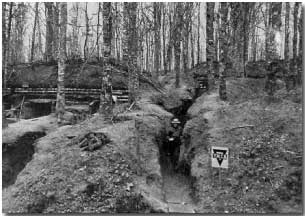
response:
M8 86L21 87L28 83L30 87L57 87L57 65L17 65L13 69ZM67 88L100 88L101 72L103 68L99 64L67 64L65 70L65 86ZM119 70L118 70L119 71ZM114 88L127 88L124 74L114 71L112 77Z

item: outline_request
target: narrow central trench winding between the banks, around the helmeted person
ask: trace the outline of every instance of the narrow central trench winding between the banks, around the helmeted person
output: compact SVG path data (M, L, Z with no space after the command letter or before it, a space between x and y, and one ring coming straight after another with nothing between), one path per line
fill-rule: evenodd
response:
M187 116L188 108L193 104L193 100L184 100L182 105L167 110L174 114L181 122L181 130L183 131L185 123L189 120ZM177 139L180 143L172 150L173 154L168 155L168 150L165 149L168 138L165 132L162 138L162 144L159 146L160 152L160 166L163 178L163 200L168 205L169 213L195 213L195 202L192 197L193 192L193 178L190 176L190 165L187 163L178 163L179 149L184 141L181 138Z

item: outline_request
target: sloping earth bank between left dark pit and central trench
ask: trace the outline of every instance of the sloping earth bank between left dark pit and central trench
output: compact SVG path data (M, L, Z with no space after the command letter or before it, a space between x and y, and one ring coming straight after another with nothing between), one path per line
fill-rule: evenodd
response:
M114 124L95 116L48 133L34 144L15 183L3 189L3 212L166 212L158 137L171 117L141 100ZM82 151L80 140L89 132L110 143Z

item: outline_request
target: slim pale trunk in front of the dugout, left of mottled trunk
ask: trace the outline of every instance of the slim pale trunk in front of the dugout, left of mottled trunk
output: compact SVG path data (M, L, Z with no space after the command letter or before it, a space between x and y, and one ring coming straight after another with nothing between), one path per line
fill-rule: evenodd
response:
M65 60L66 60L66 34L67 34L67 3L60 3L60 29L58 50L58 80L56 113L57 123L61 124L65 113Z

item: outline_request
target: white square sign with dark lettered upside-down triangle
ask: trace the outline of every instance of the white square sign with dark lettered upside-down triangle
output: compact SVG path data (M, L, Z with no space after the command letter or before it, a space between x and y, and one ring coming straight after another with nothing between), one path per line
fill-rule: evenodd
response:
M211 158L212 167L229 168L229 148L212 146Z

